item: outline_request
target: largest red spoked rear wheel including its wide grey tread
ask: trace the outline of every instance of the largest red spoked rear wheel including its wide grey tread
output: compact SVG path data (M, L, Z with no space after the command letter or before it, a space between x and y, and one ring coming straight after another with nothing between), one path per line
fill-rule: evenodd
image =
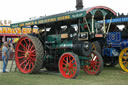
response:
M40 40L33 36L23 36L15 49L15 61L22 73L37 73L43 63L43 46Z

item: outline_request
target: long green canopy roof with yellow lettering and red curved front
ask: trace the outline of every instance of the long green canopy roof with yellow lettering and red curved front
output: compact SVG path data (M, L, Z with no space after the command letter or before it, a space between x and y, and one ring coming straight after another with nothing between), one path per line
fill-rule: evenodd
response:
M57 22L57 21L82 18L82 17L85 17L89 13L91 13L92 15L95 15L97 10L101 11L103 15L107 14L108 12L112 13L113 15L116 15L116 12L108 7L96 6L96 7L75 10L75 11L65 12L65 13L51 15L51 16L40 17L37 19L29 20L29 21L14 23L14 24L11 24L11 28L34 26L34 25L39 25L39 24L46 24L46 23L52 23L52 22Z

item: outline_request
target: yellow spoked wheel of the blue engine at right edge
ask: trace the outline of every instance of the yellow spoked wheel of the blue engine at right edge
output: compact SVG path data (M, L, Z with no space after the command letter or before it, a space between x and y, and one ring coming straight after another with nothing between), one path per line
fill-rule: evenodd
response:
M124 48L119 56L119 64L121 68L128 72L128 48Z

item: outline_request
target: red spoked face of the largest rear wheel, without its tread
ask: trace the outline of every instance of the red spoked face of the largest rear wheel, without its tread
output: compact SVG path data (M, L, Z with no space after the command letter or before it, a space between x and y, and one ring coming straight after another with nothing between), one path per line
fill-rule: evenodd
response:
M22 37L16 46L15 60L22 73L31 73L36 61L35 47L29 37Z

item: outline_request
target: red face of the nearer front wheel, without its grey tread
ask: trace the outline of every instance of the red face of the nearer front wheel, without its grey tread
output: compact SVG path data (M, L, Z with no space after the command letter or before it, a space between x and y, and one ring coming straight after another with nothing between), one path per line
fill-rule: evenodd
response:
M66 67L68 65L68 67ZM59 70L65 78L73 78L77 71L77 63L70 53L65 53L59 61Z

